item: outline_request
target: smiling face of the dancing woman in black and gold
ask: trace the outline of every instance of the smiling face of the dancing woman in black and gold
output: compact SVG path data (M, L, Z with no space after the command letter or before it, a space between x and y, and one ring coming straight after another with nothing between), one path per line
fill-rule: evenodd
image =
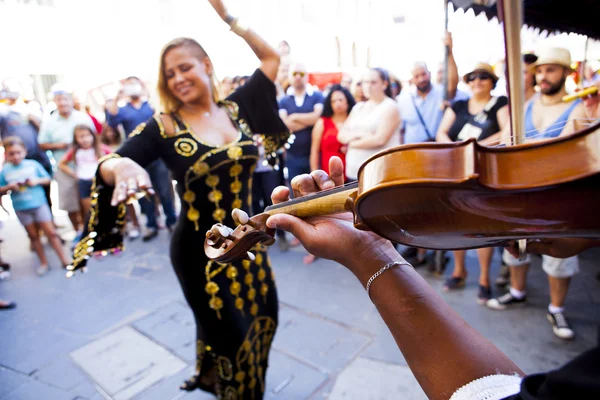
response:
M186 45L173 48L165 53L163 66L166 86L182 104L202 103L211 97L212 64L199 50Z

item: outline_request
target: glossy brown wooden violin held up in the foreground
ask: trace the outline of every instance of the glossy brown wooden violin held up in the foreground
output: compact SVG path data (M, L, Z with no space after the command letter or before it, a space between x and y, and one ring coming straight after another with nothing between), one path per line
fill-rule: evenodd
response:
M269 216L352 212L354 227L434 250L504 245L521 239L600 237L600 122L570 136L508 147L475 139L381 151L357 182L234 218L207 232L206 255L228 263L271 245ZM235 214L234 214L235 216Z

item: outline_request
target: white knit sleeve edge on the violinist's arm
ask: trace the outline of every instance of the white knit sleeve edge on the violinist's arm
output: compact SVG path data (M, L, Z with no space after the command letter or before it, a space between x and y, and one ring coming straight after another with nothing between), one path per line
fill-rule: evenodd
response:
M490 375L467 383L450 400L501 400L519 393L521 377L517 375Z

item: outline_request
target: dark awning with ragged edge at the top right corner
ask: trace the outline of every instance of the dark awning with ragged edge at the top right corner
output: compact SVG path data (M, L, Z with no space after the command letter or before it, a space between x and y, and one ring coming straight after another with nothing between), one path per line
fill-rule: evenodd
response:
M449 0L454 8L473 9L488 19L497 16L496 0ZM600 1L598 0L523 0L527 26L550 33L579 33L600 40Z

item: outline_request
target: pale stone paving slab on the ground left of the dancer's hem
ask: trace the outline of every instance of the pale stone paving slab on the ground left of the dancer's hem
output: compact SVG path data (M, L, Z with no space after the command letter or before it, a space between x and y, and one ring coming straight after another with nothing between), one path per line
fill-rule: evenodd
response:
M128 400L186 367L130 327L122 328L74 352L71 357L115 400Z

